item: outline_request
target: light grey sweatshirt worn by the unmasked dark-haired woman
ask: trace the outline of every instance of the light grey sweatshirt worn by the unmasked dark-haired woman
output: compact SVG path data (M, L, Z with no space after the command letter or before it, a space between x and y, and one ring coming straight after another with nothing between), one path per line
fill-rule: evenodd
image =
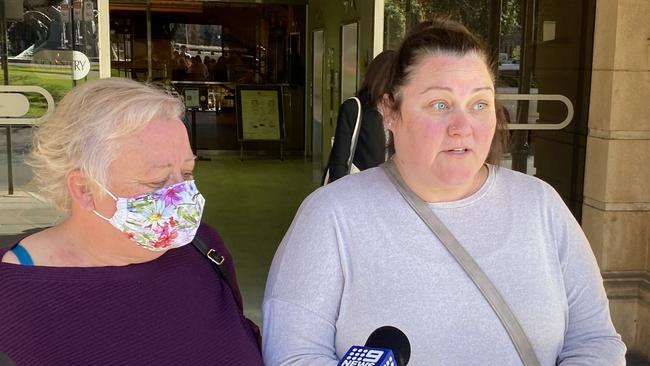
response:
M580 226L541 180L490 166L481 189L430 204L494 282L541 365L625 365ZM334 366L384 325L409 366L521 365L486 300L381 168L312 193L275 255L263 303L268 366Z

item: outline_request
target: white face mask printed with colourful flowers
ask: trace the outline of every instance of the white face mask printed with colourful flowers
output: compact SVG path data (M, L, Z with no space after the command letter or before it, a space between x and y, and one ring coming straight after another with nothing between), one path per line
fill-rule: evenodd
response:
M193 180L183 181L169 187L134 197L115 197L117 211L106 218L139 246L163 251L189 244L201 223L205 199Z

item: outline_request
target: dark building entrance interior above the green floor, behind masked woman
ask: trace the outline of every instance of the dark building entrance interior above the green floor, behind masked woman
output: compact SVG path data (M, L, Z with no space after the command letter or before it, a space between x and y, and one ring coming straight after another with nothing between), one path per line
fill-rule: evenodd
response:
M277 141L246 138L236 107L250 104L254 112L266 105L240 98L240 87L277 87L283 113L274 120L282 131L274 136L282 136L285 150L301 154L304 29L305 5L295 1L111 1L111 71L184 97L199 151L246 147L276 154ZM255 132L269 123L255 123Z

